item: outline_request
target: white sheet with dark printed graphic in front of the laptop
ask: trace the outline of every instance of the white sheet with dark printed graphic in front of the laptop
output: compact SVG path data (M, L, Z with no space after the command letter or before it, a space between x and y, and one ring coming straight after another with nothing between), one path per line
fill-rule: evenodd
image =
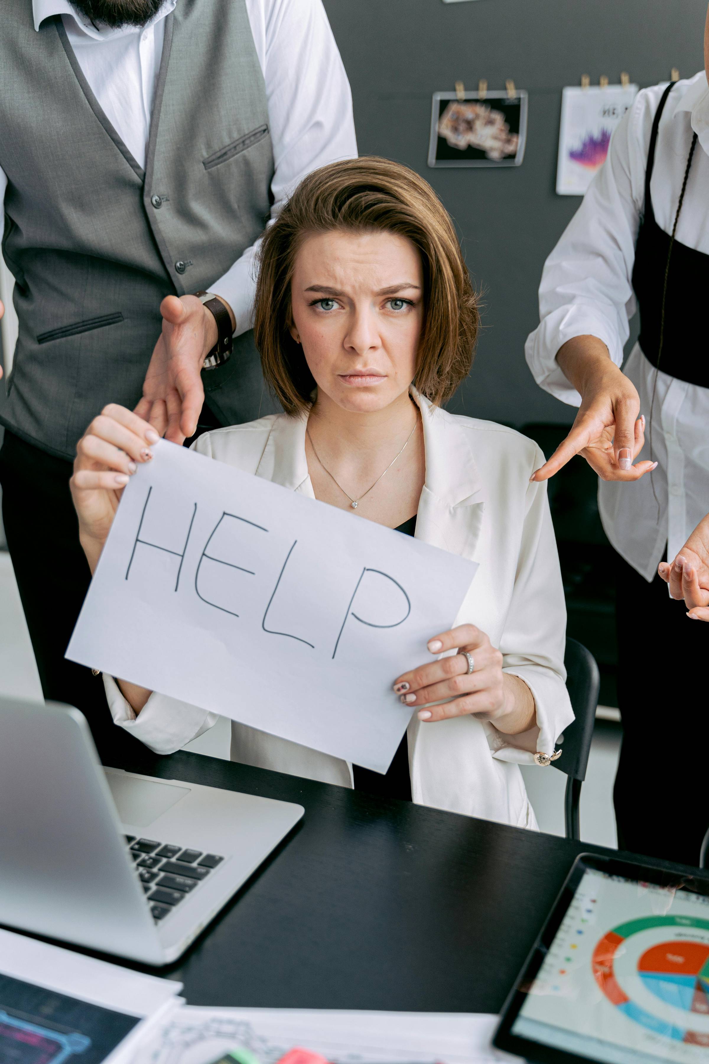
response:
M0 930L0 1061L132 1064L181 990Z

